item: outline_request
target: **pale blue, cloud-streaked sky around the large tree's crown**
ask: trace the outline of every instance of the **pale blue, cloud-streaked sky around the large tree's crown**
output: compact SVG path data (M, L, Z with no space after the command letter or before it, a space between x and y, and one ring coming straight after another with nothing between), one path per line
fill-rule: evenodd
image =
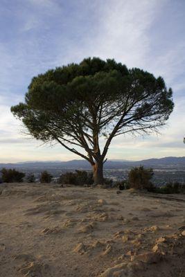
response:
M1 0L0 163L80 159L24 134L10 112L30 80L85 57L114 58L161 75L175 109L161 134L118 136L108 159L185 156L184 0Z

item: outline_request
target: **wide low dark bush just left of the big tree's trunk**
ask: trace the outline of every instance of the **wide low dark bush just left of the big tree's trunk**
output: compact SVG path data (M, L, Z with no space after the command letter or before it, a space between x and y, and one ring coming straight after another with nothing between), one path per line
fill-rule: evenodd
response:
M94 183L92 172L76 170L76 172L66 172L60 175L59 184L71 184L76 186L91 185Z

